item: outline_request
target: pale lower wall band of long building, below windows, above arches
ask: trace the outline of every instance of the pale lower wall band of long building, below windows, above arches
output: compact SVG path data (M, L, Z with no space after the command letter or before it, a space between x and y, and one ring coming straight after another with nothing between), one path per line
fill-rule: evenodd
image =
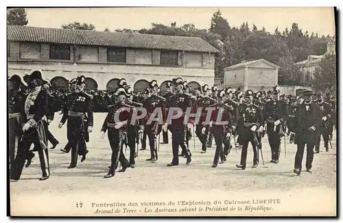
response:
M8 73L29 73L30 70L43 70L44 77L56 76L72 79L80 75L97 81L98 89L105 90L110 79L125 78L130 86L139 79L150 81L156 79L158 84L173 78L182 77L185 81L197 81L200 85L213 85L214 70L204 68L183 68L179 66L99 64L99 63L62 63L62 62L8 62Z

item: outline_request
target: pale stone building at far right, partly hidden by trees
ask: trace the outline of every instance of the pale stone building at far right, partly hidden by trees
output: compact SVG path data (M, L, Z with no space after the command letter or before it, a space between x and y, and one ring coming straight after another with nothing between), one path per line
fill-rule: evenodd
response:
M327 52L322 55L309 55L307 60L300 61L296 63L300 67L300 72L302 77L300 78L300 83L309 84L312 78L314 78L314 70L320 65L322 58L329 53L335 54L335 37L333 40L327 43Z

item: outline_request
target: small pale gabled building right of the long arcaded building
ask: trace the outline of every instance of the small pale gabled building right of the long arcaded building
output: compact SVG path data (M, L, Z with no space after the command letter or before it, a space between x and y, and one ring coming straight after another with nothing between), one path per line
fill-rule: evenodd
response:
M278 84L279 66L267 60L241 62L224 68L224 88L246 90L272 90Z

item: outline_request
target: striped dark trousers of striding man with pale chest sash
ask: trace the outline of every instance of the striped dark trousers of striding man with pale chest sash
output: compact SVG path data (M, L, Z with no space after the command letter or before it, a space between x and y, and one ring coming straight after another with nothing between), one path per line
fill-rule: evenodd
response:
M44 125L43 128L45 128L45 130L47 129L47 124L45 122L40 121L40 124ZM40 161L40 169L42 170L42 176L50 175L48 150L43 149L40 146L38 133L36 132L36 129L31 128L24 133L21 141L19 142L18 152L16 153L16 158L14 159L13 167L11 168L11 179L19 180L21 178L25 160L32 158L32 152L29 151L29 148L32 144L38 148L38 157ZM45 144L47 144L47 142L45 142Z

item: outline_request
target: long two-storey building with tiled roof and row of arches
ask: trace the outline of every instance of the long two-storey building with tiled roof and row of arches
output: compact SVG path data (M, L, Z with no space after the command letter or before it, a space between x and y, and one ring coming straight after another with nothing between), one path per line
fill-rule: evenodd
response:
M8 75L42 70L58 88L80 75L88 90L113 90L121 78L136 92L153 79L213 85L217 52L194 37L8 26Z

